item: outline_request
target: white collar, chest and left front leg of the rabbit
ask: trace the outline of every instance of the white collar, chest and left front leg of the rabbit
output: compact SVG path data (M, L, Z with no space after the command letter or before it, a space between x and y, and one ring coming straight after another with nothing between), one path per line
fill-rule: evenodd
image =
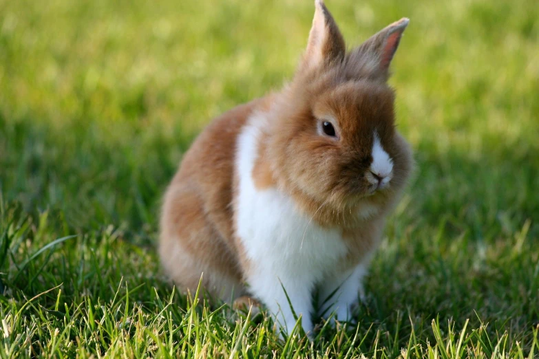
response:
M277 188L255 188L253 165L265 122L264 113L253 115L238 138L237 235L250 260L247 281L251 292L273 314L279 313L277 320L290 332L295 320L284 287L295 312L303 315L304 329L310 331L313 288L346 255L346 243L340 230L319 227Z

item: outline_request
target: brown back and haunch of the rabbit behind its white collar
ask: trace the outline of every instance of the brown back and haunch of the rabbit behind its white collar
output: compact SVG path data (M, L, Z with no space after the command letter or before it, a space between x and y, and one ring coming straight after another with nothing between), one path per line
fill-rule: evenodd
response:
M233 241L231 173L237 134L260 102L249 102L216 118L186 153L167 189L160 257L182 290L195 292L200 274L205 272L204 286L223 298L230 292L221 293L222 277L226 285L235 284L238 294L242 291L242 272ZM175 255L178 252L196 258L198 266L193 268L193 263Z

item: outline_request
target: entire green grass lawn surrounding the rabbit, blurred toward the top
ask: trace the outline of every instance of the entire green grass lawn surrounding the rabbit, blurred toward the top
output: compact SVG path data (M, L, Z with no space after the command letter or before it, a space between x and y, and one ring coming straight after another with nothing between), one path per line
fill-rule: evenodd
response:
M311 1L0 0L0 358L539 356L539 3L327 0L410 17L391 83L418 168L359 325L280 341L159 270L194 136L293 74Z

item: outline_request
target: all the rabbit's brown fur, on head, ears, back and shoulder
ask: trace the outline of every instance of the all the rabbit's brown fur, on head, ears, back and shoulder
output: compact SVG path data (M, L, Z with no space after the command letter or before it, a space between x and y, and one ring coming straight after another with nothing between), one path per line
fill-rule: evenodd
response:
M315 223L340 228L349 248L343 269L372 252L412 167L386 84L407 24L393 23L347 54L335 21L317 1L306 54L290 85L224 113L200 134L167 189L160 224L163 266L183 290L195 290L204 272L204 287L214 294L228 299L233 291L244 292L249 260L235 236L234 164L237 137L255 111L268 118L253 168L255 186L277 188ZM337 138L319 133L328 116ZM366 173L374 131L394 166L388 188L371 195ZM358 215L369 208L375 208L372 214Z

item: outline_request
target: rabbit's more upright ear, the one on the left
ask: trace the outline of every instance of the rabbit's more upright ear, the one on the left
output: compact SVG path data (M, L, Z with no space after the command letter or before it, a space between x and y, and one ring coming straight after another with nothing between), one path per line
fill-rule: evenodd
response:
M342 61L346 54L343 36L324 1L315 0L315 18L310 29L302 69L319 67L332 61Z

